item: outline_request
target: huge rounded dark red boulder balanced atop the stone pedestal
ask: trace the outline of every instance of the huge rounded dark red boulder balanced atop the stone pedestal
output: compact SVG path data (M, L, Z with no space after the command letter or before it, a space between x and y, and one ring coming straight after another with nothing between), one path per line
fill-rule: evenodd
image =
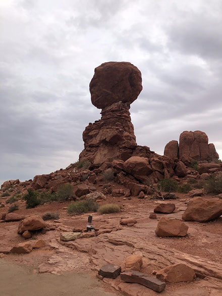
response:
M133 103L142 90L141 72L128 62L108 62L95 68L89 84L92 104L104 109L114 103Z

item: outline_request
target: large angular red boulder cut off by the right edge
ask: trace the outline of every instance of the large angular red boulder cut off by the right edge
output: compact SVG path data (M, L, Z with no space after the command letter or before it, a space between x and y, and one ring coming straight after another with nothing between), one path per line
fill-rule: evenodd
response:
M182 219L185 221L207 222L222 215L222 201L211 198L194 198L190 201Z

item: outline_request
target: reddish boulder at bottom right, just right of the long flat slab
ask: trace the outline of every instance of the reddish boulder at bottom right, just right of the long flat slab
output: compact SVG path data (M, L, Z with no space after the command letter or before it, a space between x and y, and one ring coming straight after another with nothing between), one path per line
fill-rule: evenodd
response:
M195 271L186 264L174 264L167 266L156 273L156 277L162 281L177 283L181 281L192 281Z

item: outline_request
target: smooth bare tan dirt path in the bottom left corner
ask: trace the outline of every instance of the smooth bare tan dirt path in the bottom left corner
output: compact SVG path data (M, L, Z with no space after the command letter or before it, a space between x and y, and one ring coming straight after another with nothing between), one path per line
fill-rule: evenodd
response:
M105 292L104 284L87 274L33 274L6 260L0 260L1 296L116 296Z

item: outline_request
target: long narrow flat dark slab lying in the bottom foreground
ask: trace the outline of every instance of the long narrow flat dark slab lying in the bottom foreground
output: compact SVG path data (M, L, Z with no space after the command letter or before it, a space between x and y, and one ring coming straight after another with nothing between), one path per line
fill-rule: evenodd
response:
M130 271L122 272L120 275L120 278L124 282L138 283L156 292L161 292L165 288L164 282L138 271L130 270Z

